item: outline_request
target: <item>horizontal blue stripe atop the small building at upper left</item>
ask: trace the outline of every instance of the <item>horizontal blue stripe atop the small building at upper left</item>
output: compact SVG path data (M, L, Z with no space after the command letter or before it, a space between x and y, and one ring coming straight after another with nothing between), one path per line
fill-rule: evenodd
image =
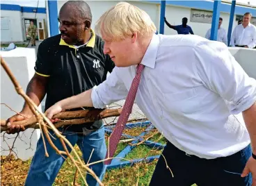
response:
M12 10L12 11L33 13L33 12L35 12L36 7L19 6L19 5L12 5L12 4L1 4L1 10ZM40 8L38 8L37 12L46 14L46 8L40 7Z

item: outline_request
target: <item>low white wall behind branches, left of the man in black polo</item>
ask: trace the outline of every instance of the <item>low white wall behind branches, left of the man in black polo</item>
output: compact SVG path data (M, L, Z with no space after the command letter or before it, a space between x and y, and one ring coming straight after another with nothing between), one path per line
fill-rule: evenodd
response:
M6 63L13 75L17 79L19 85L26 92L26 86L35 73L33 67L35 65L35 49L29 48L17 48L12 51L1 51L0 55L6 60ZM6 103L16 112L20 112L24 105L24 99L17 94L13 83L7 76L6 71L1 68L1 103ZM40 107L39 107L40 108ZM1 105L1 119L8 119L15 115L15 112L11 111L5 105ZM13 145L13 137L16 135L4 135L6 142L9 146ZM19 133L19 137L15 141L14 151L17 153L18 158L22 160L28 160L33 156L36 149L36 143L40 137L40 130L27 129L24 132ZM10 139L8 139L10 138ZM8 150L8 145L3 142L3 133L1 133L1 150ZM31 147L31 149L30 149ZM8 155L9 151L2 151L1 155Z

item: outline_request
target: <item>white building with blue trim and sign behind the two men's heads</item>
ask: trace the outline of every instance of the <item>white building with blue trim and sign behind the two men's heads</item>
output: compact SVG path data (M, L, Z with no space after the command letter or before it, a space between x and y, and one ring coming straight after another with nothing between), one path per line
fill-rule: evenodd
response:
M58 8L58 12L66 1L55 1ZM93 25L99 17L111 6L114 6L118 1L86 1L93 13ZM129 1L129 3L138 6L145 10L153 20L154 24L159 28L160 21L160 1ZM228 30L230 21L230 8L231 3L221 3L221 15L223 18L223 28ZM213 1L166 1L166 19L170 24L178 25L182 24L182 18L187 17L189 19L188 25L191 26L193 32L196 35L205 37L205 33L211 28L211 16L214 9ZM238 19L241 19L245 12L251 12L256 17L256 6L238 5L235 9L233 28L237 26ZM51 20L49 20L51 22ZM256 25L256 18L253 18L252 23ZM164 26L164 33L167 35L177 34L168 26ZM57 29L57 26L56 28Z

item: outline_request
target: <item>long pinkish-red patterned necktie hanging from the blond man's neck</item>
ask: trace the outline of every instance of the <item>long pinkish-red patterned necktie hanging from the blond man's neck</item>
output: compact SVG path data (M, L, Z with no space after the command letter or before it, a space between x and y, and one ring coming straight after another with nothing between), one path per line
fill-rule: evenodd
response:
M129 90L127 98L125 100L125 105L123 106L120 117L118 118L118 122L115 125L115 128L113 129L113 132L111 133L111 136L109 137L109 149L106 152L106 158L113 158L116 147L118 146L118 142L122 135L122 131L125 129L125 124L127 123L129 115L131 114L132 106L134 105L134 99L136 97L136 92L138 90L138 85L139 85L140 79L141 79L141 73L142 73L144 67L145 66L142 64L139 64L137 66L136 76L131 83L130 90ZM112 159L106 160L104 163L111 164L111 161L112 161Z

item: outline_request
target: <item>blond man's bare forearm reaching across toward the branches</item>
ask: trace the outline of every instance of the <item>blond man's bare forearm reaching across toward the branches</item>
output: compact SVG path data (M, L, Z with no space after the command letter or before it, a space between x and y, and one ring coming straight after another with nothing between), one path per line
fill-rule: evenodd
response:
M57 104L61 105L63 110L80 108L80 107L93 107L93 101L91 99L92 89L77 94L76 96L69 97L59 101Z

